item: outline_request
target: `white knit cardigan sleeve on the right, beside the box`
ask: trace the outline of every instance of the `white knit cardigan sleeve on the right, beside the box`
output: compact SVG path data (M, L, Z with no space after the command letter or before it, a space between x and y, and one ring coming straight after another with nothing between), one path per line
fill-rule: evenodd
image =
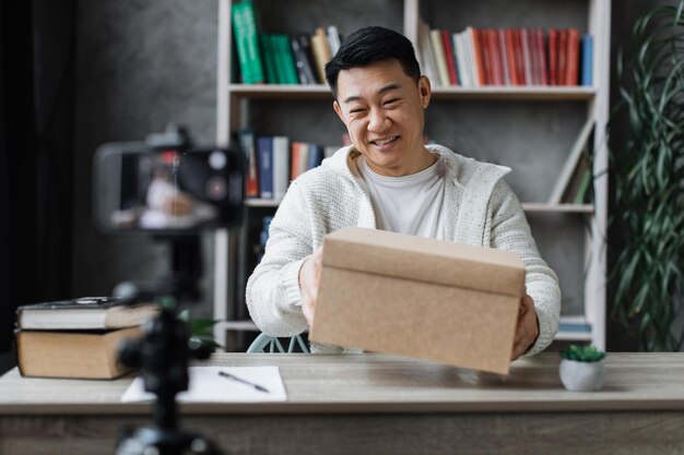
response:
M492 248L515 251L524 263L524 285L534 300L539 337L526 355L545 349L558 331L561 287L555 272L541 258L522 205L505 180L499 180L490 199Z

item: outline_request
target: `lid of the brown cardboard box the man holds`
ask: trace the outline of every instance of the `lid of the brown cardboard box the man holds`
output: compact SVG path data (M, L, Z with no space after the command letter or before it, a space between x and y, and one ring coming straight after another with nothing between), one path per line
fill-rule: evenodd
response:
M323 267L520 296L524 264L506 250L377 229L346 227L326 236Z

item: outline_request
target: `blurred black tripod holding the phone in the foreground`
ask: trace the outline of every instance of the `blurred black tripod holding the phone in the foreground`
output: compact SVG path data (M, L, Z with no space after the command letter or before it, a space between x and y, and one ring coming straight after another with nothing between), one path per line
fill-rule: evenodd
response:
M172 278L149 289L131 287L128 299L139 301L160 296L174 300L198 298L197 277L201 276L200 246L197 237L173 237ZM143 337L125 344L119 359L127 367L141 368L145 391L156 395L152 427L129 428L117 444L117 455L221 454L214 444L196 432L178 426L176 394L188 388L188 361L207 359L211 350L190 346L187 324L173 309L162 308L158 316L146 321Z

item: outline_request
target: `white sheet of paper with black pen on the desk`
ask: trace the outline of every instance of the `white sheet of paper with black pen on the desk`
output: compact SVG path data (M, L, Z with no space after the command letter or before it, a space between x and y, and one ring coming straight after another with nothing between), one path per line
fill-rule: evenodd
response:
M266 387L261 392L249 384L221 376L225 371L239 379ZM176 399L185 403L250 403L286 402L287 393L278 367L190 367L189 385ZM138 376L121 396L122 403L152 402L154 394L144 391L142 378Z

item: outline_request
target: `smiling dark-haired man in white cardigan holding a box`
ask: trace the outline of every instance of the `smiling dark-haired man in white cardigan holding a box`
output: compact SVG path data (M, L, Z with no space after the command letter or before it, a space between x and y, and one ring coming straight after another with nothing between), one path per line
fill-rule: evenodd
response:
M359 226L517 252L526 294L511 359L549 346L561 291L503 180L510 169L423 144L431 84L411 41L382 27L362 28L326 65L326 79L352 145L297 178L275 213L263 259L247 283L259 328L291 336L312 323L323 237ZM314 352L340 350L311 346Z

